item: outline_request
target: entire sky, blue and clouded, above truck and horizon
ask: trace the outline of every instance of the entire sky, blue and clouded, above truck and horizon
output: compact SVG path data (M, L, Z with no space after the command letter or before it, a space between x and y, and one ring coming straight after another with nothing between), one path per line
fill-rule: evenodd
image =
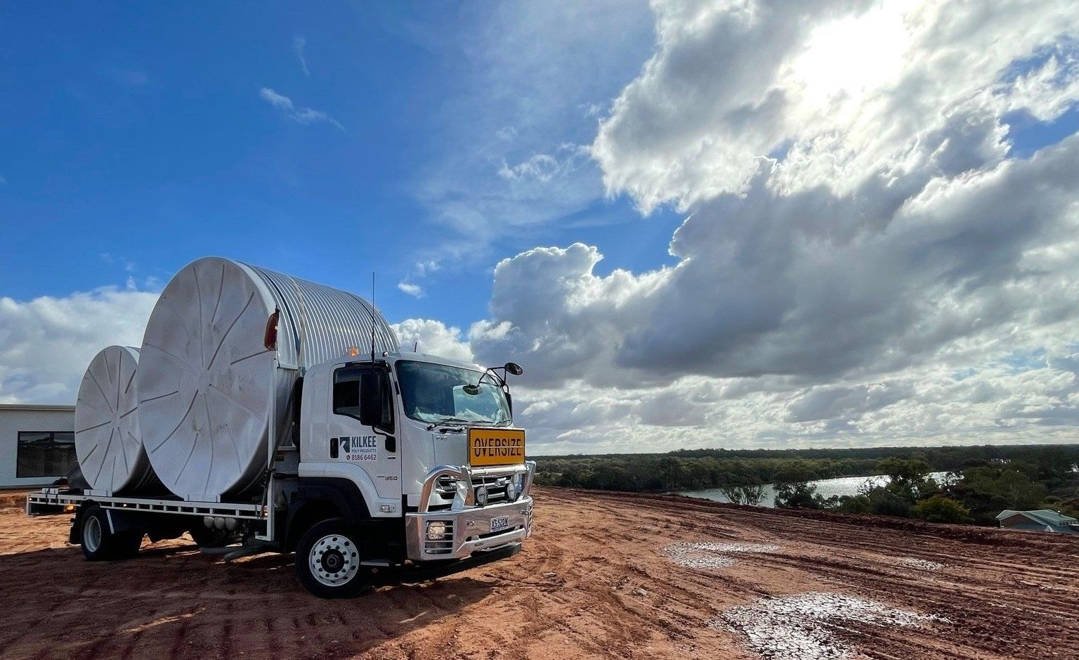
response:
M1079 441L1071 0L0 5L0 402L207 255L544 454Z

